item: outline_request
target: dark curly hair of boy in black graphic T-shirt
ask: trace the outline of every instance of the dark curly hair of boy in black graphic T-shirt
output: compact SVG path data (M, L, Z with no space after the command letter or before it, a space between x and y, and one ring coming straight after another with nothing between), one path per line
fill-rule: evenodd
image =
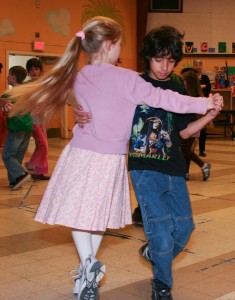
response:
M149 72L150 59L152 57L171 56L177 65L183 58L183 37L172 26L161 26L151 30L144 38L142 48L139 51L144 62L144 72Z

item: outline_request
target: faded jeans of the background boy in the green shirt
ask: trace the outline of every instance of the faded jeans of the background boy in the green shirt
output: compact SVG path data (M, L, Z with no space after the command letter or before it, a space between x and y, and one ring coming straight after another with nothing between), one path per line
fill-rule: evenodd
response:
M8 131L2 152L2 160L6 166L10 183L14 183L16 178L25 174L22 161L27 151L31 134L31 131Z

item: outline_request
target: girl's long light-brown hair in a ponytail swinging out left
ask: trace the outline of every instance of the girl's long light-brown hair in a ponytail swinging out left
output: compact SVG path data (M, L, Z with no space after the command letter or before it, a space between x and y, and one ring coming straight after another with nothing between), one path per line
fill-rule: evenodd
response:
M36 81L23 84L7 91L15 104L10 116L30 113L48 121L55 111L71 98L78 61L81 51L89 55L90 62L100 57L102 62L102 44L104 41L115 43L121 36L121 27L113 19L94 17L82 29L85 37L75 36L58 63Z

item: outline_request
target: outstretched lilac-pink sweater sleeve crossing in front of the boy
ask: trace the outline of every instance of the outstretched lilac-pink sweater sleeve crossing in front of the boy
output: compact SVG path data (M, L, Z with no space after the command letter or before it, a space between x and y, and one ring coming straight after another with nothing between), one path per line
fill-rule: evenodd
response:
M127 99L136 105L147 104L174 113L207 112L208 99L190 97L171 90L163 90L146 82L138 73L128 70L127 76L122 76L123 92Z

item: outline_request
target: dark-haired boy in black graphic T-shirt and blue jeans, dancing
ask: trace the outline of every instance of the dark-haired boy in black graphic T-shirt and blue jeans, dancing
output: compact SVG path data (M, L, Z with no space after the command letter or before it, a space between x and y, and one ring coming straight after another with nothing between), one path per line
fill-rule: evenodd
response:
M155 87L186 94L184 86L171 78L183 57L182 39L170 26L149 32L140 51L142 78ZM179 115L146 105L136 108L128 166L148 240L141 252L152 263L153 300L173 299L172 262L194 228L180 138L195 134L215 115L208 113L197 120L194 114Z

